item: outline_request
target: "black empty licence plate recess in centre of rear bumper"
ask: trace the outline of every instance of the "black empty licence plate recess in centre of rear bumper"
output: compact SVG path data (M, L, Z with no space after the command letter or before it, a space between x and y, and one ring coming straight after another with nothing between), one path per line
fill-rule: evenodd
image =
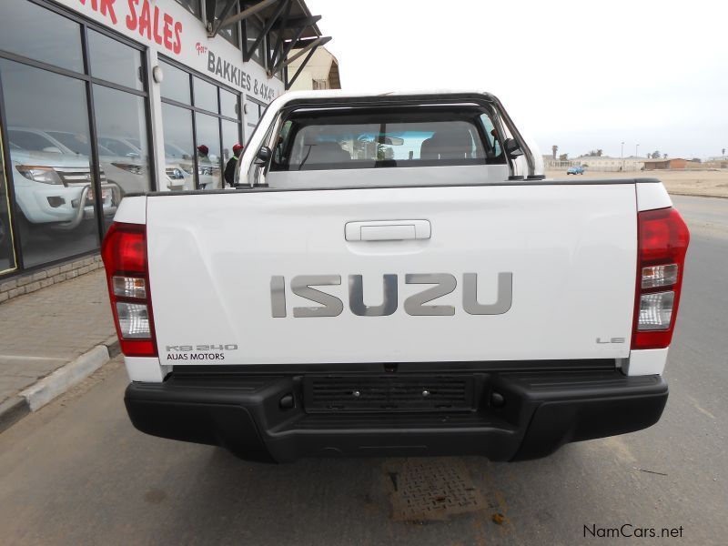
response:
M308 413L468 411L474 388L469 375L308 375L303 402Z

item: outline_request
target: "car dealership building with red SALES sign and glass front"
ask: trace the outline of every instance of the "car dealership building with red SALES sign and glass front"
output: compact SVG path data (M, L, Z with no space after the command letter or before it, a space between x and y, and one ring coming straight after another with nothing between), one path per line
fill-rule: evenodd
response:
M125 195L223 187L329 41L319 19L303 0L0 3L0 302L100 267Z

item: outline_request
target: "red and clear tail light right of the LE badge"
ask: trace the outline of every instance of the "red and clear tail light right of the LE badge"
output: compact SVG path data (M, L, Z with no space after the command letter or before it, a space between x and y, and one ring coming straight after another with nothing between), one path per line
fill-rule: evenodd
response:
M638 213L637 238L632 349L662 349L677 319L690 232L677 210L659 208Z

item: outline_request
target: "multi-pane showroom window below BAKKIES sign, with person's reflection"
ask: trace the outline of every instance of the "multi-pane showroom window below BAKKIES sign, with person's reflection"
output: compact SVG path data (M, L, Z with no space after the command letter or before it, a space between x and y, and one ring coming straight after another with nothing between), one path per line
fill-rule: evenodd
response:
M160 59L167 187L218 189L242 142L240 94Z

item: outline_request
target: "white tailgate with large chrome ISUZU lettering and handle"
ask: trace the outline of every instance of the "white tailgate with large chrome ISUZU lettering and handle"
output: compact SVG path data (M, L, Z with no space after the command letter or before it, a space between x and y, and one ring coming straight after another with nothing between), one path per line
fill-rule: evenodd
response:
M626 182L148 197L159 358L626 358L637 253ZM417 298L431 288L447 293Z

